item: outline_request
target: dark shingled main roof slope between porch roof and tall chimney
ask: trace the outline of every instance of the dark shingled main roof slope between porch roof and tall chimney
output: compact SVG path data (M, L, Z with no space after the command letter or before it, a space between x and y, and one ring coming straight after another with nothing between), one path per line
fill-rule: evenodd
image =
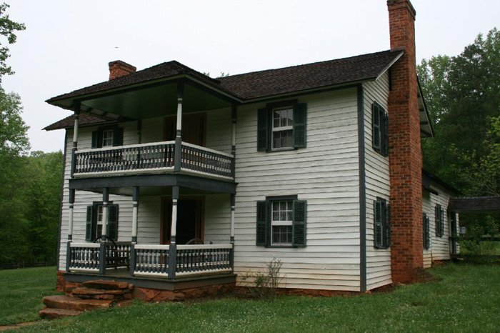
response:
M401 54L381 51L312 64L254 71L219 78L221 86L243 99L375 79Z

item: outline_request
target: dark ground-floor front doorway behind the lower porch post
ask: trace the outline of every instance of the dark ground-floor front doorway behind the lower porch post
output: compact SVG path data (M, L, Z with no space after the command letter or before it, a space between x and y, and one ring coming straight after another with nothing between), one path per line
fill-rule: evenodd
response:
M161 244L170 244L172 199L161 201ZM203 197L181 197L177 201L176 243L186 244L191 239L203 239Z

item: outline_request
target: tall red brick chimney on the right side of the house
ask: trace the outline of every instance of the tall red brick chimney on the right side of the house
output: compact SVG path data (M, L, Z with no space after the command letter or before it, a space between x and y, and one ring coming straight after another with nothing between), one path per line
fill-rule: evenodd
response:
M409 0L388 0L391 49L404 55L391 69L389 174L391 179L391 271L409 283L423 266L422 154L417 100L415 15Z

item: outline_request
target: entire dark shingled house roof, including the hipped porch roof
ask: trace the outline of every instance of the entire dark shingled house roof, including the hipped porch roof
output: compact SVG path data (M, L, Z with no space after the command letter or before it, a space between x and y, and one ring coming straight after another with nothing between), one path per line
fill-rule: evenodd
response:
M224 91L226 94L234 96L236 100L251 101L252 99L279 94L306 91L308 89L321 89L322 87L326 88L328 86L376 79L391 64L394 64L394 61L401 56L402 52L401 50L381 51L281 69L254 71L246 74L221 77L219 79L211 79L209 76L190 69L188 66L184 66L177 61L169 61L110 81L71 91L68 94L52 97L47 102L49 104L57 104L57 101L63 99L74 99L86 94L125 88L133 84L167 79L182 74L203 81L204 84L214 89ZM101 119L95 120L95 124L101 121ZM45 129L51 130L70 127L69 121L72 121L71 116L46 126ZM80 124L94 124L94 122L90 121L89 117L88 122L81 122Z

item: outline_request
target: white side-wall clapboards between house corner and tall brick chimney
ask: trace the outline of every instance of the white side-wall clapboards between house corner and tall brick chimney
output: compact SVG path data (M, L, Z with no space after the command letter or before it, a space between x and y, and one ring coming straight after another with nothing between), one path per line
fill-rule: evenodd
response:
M371 133L371 105L376 102L387 111L388 74L382 75L378 81L364 83L363 89L366 174L366 289L370 290L392 283L391 249L376 249L374 247L374 201L380 197L389 202L389 158L374 150ZM391 121L390 114L389 121Z

